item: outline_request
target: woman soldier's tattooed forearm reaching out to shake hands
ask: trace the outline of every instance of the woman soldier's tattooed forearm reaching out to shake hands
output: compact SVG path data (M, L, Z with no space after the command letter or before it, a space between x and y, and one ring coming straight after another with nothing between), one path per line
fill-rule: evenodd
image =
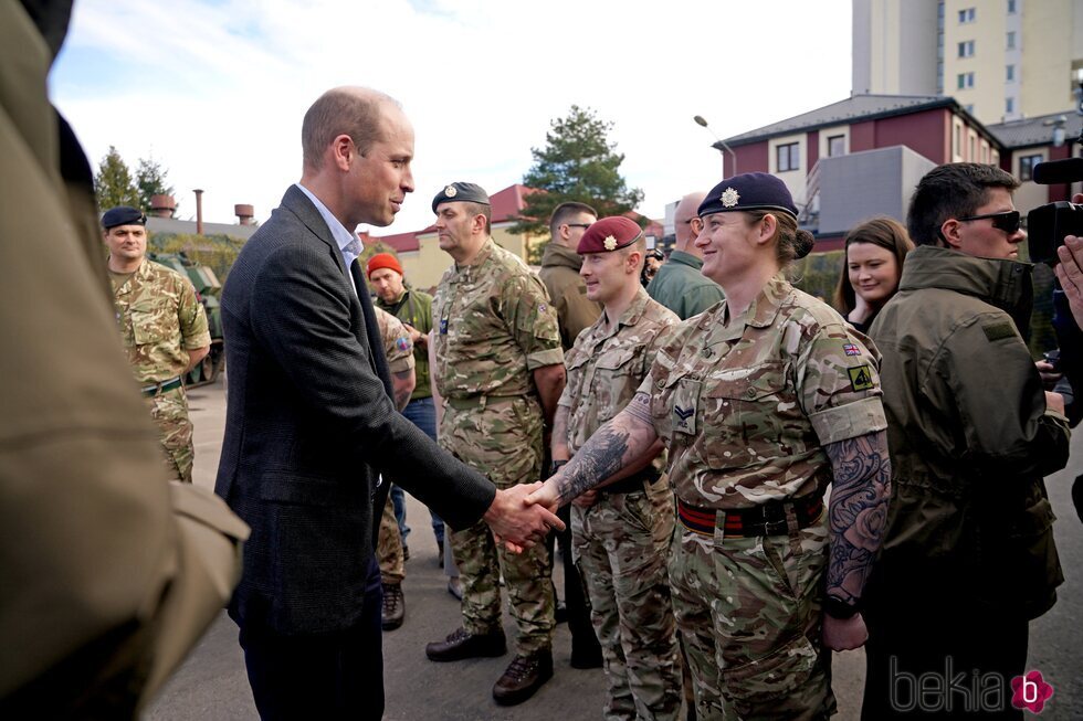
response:
M567 503L585 490L631 463L658 438L654 426L621 411L612 421L598 428L567 466L555 477L560 503Z

